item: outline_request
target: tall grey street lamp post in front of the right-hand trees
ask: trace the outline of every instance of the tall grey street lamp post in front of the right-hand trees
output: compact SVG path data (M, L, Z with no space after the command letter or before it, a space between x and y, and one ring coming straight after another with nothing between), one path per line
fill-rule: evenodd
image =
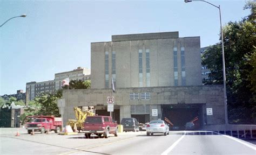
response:
M219 9L220 12L220 5L216 6L210 2L204 1L204 0L185 0L185 3L192 2L192 1L201 1L208 4L211 4L212 6ZM225 71L225 57L224 57L224 40L223 40L223 30L221 26L221 13L220 13L220 31L221 31L221 46L222 46L222 63L223 63L223 85L224 85L224 108L225 108L225 124L228 124L228 118L227 118L227 91L226 91L226 71Z

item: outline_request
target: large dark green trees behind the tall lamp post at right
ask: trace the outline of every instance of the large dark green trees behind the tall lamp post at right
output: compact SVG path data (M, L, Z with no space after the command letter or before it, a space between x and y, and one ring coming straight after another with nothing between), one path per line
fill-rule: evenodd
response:
M245 9L251 9L251 14L239 22L229 22L223 28L227 102L233 123L252 123L255 116L255 6L255 2L248 2ZM203 65L210 69L209 78L212 79L205 84L223 84L220 43L205 52Z

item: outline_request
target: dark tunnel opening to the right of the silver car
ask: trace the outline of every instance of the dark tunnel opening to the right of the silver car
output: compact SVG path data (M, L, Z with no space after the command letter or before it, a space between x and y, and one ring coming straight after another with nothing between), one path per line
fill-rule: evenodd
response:
M170 130L185 130L187 122L193 122L194 127L187 130L198 130L203 126L203 104L164 104L163 119L166 117L173 124ZM188 127L187 127L188 128Z

